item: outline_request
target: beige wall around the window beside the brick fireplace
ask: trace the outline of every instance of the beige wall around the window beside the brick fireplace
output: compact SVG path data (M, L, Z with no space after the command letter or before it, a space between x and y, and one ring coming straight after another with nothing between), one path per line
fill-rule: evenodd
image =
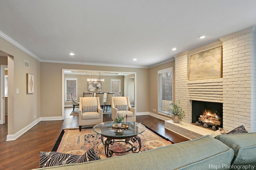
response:
M158 70L163 70L166 68L172 67L173 70L173 89L172 89L172 98L173 102L175 102L175 61L171 61L169 63L161 64L159 66L155 66L149 68L149 112L158 113ZM156 109L156 112L153 111Z

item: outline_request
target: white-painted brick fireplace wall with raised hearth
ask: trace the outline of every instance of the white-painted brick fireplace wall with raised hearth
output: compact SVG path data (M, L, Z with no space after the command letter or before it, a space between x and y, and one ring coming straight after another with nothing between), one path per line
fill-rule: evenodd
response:
M222 78L188 80L190 55L222 45ZM175 57L175 101L186 113L181 123L165 122L165 128L189 139L210 134L196 133L192 123L192 100L223 104L223 128L244 125L256 132L256 27L227 35L214 43ZM198 131L202 131L201 127ZM189 132L190 131L190 132Z

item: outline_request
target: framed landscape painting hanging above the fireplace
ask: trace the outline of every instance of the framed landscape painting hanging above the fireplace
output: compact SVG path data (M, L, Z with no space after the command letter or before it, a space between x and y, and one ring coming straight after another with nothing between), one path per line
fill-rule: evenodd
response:
M190 55L189 80L222 77L222 46Z

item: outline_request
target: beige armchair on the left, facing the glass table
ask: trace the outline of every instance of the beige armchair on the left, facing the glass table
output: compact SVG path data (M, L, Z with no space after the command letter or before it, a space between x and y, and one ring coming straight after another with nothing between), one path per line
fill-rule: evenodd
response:
M96 125L103 122L103 109L99 97L84 97L79 100L79 131L84 125Z

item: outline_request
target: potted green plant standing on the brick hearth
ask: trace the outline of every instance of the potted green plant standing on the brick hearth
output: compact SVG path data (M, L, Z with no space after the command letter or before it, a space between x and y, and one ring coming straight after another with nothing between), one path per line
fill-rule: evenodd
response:
M170 104L170 108L168 111L168 116L171 117L174 123L179 123L185 117L185 112L182 111L182 107L180 107L180 101L177 103Z

